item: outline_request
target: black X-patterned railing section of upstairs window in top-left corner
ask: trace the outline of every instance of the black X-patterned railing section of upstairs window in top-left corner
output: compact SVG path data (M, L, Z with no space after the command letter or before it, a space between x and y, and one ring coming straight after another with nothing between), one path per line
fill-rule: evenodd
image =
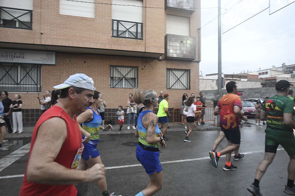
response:
M0 7L0 27L32 30L32 10Z

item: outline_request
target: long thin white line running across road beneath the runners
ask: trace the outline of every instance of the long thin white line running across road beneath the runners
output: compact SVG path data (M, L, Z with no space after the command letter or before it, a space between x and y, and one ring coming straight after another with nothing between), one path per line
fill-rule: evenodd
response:
M283 148L278 148L277 150L284 150L284 149ZM259 152L263 152L264 153L264 150L252 151L252 152L244 152L243 154L248 155L248 154L259 153ZM232 154L232 156L233 155L234 154ZM221 157L225 157L225 155L222 155ZM208 157L195 158L195 159L183 159L183 160L175 160L175 161L165 161L165 162L161 162L161 164L166 164L166 163L179 163L179 162L186 162L186 161L197 161L197 160L205 160L205 159L210 159L210 157L208 156ZM0 164L1 164L1 160L0 160ZM135 165L121 165L121 166L114 166L114 167L106 167L106 170L126 168L126 167L137 167L137 166L142 166L142 165L141 164L135 164ZM1 166L0 166L0 168L1 168ZM14 178L14 177L24 177L24 175L0 176L0 179L3 179L3 178Z

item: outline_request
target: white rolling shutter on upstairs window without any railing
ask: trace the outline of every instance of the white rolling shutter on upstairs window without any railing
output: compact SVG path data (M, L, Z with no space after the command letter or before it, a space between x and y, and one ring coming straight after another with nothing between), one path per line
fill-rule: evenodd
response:
M95 0L78 1L59 1L59 13L63 15L95 17Z

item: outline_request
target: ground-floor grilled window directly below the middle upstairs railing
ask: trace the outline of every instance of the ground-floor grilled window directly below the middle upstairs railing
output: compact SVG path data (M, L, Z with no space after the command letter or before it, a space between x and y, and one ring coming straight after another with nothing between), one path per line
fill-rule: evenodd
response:
M138 67L110 66L111 88L136 88L138 85Z

